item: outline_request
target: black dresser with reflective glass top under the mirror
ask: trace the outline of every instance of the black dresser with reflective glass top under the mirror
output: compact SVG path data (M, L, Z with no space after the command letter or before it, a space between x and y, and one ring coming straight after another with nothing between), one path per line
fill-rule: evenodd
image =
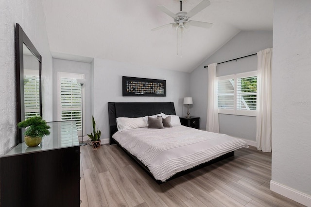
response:
M0 157L3 207L79 207L80 147L75 121L48 122L51 135Z

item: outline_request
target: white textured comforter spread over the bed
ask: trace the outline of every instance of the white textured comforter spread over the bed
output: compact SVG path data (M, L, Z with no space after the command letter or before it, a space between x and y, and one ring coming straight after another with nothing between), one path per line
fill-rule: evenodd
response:
M248 148L242 139L182 125L129 129L116 132L112 137L160 181L228 152Z

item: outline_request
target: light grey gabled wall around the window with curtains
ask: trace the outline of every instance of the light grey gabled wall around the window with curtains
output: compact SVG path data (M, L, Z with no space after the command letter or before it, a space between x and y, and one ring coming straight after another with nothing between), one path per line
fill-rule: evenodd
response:
M207 66L272 48L272 31L242 31L190 74L191 114L201 117L200 128L206 128ZM257 70L257 55L217 65L217 76ZM256 117L219 114L220 133L256 141Z

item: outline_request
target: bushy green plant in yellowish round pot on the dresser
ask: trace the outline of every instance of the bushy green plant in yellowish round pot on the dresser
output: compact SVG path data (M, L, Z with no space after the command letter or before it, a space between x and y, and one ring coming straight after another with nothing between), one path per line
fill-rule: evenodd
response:
M39 145L45 135L50 135L50 126L42 120L42 117L35 116L21 121L17 124L18 128L26 128L24 141L29 147Z

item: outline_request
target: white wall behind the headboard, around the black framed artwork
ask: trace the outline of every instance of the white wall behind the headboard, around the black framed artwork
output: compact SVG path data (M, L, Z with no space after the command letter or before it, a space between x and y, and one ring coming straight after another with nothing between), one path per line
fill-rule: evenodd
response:
M122 97L122 76L166 80L166 97ZM92 114L102 138L109 138L108 102L174 102L176 114L185 116L183 98L190 95L190 74L94 59L92 66Z

